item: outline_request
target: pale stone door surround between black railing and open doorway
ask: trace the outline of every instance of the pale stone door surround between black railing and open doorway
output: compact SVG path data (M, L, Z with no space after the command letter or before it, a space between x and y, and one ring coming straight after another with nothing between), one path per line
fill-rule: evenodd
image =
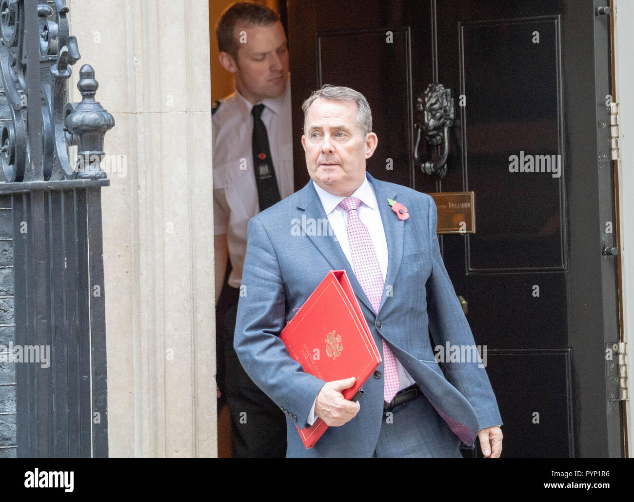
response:
M102 163L110 456L216 456L207 3L67 4L71 99L91 64L120 156Z

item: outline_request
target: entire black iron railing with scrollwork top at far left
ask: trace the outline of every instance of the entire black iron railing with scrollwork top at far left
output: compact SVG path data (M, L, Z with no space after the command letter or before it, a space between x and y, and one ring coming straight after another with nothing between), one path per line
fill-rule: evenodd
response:
M10 109L0 207L13 219L15 343L51 354L49 366L15 366L20 457L108 456L101 187L110 181L100 162L114 119L94 100L89 65L79 72L81 102L68 103L81 56L67 16L64 0L0 0Z

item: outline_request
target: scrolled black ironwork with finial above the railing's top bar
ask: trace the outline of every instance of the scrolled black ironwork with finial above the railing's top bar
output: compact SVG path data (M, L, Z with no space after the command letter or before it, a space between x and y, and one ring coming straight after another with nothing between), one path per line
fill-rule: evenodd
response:
M35 19L29 8L37 9ZM94 100L99 84L89 65L77 84L81 103L68 103L67 80L81 55L67 16L64 0L0 1L0 66L13 118L1 136L7 182L106 177L103 137L114 119ZM78 147L76 162L70 146Z

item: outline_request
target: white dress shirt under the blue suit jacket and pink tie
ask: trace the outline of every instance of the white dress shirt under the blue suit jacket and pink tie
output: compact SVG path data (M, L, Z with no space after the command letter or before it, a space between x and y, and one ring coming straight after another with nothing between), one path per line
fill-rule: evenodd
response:
M314 183L314 181L311 183L313 183L313 186L317 191L317 195L319 195L323 210L328 216L330 226L332 226L332 231L337 237L339 245L354 271L353 256L350 252L350 244L348 241L348 212L339 205L339 203L346 197L333 195L332 193L328 193L323 190L323 188ZM378 264L381 267L381 272L383 273L383 281L385 281L385 275L387 274L387 240L385 240L383 221L381 219L380 211L378 210L377 197L374 195L374 190L370 182L368 182L368 178L363 180L361 186L359 186L359 188L357 188L351 196L361 200L361 204L359 205L357 212L363 224L366 228L368 228L370 238L372 238L374 251L377 254ZM387 204L387 200L385 200L385 203ZM398 376L400 381L399 390L406 389L407 387L410 387L410 385L416 383L415 380L411 378L411 375L407 372L407 370L403 368L403 364L401 364L398 359L396 359L396 366L398 367ZM311 413L308 415L308 425L313 425L314 421L317 420L314 409L315 403L313 402L313 408L311 408Z

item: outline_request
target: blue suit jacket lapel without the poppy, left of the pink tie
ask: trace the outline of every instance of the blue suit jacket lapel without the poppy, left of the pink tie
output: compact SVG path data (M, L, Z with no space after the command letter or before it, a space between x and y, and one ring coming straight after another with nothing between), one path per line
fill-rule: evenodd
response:
M361 302L363 302L363 304L365 304L366 307L368 307L368 309L370 309L371 312L374 312L372 304L370 303L370 300L368 300L363 288L361 288L359 281L356 279L354 271L350 266L350 262L346 258L339 241L335 240L334 233L332 236L309 235L306 231L306 223L309 221L309 218L313 218L314 221L319 222L323 221L323 219L328 220L328 217L326 216L325 210L323 210L323 205L321 205L321 200L314 189L312 181L309 181L308 184L302 188L301 192L302 195L299 202L297 202L297 207L304 212L303 214L305 216L305 218L300 216L302 235L306 235L313 242L323 257L325 257L328 263L330 263L333 270L346 271L350 284L353 286L354 294L359 300L361 300ZM328 224L328 227L331 228L330 224Z

